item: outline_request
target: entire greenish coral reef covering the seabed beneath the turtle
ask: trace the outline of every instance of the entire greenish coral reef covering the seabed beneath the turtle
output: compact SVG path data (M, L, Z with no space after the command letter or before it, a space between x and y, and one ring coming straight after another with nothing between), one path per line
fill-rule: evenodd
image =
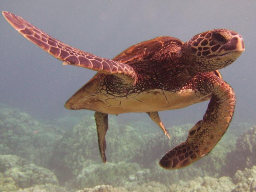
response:
M109 124L107 163L103 164L92 116L64 132L27 113L0 107L0 191L238 192L256 186L256 167L252 167L256 165L256 127L238 139L229 129L207 157L169 171L158 165L159 158L184 141L192 125L170 127L169 140L154 124L118 124L112 117ZM227 165L232 165L229 177L221 177ZM66 189L60 187L64 183Z

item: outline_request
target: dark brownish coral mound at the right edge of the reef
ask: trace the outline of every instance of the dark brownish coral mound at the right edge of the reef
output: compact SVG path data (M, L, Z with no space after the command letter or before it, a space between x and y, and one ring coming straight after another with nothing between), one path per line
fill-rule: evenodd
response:
M226 162L221 174L231 177L236 170L244 170L256 165L256 126L251 127L237 139L236 149L227 154Z

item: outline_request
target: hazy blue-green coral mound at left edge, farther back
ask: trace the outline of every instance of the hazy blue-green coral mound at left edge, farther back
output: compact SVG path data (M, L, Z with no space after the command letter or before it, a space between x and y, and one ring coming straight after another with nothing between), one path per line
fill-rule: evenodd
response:
M18 109L0 107L1 155L17 155L47 167L53 144L61 133L59 127L43 125Z

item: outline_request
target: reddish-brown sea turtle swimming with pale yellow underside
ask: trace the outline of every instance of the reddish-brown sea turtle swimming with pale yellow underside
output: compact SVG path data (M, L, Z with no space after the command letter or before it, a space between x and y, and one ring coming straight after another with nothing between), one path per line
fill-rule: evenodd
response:
M187 140L160 160L159 164L166 169L185 167L204 157L226 132L236 99L218 69L230 65L244 51L244 41L236 32L214 29L185 43L160 36L135 44L110 60L60 42L10 12L3 15L21 35L63 61L63 65L98 72L68 99L65 107L96 111L104 163L108 114L146 112L170 138L157 111L211 99L203 120L190 129Z

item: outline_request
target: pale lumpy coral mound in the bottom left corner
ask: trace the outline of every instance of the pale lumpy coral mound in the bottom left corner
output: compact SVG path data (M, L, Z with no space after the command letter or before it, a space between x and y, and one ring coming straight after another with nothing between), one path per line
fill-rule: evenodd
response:
M4 177L12 178L15 185L20 188L28 188L36 184L59 184L50 170L14 155L0 155L0 172Z

